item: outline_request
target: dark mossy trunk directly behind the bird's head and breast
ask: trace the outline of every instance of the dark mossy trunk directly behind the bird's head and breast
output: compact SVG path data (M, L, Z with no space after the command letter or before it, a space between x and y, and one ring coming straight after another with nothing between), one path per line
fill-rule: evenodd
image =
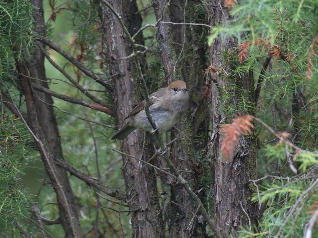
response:
M160 19L166 1L156 0L153 3L155 3L156 17ZM193 17L195 6L192 1L188 1L186 5L186 1L173 0L164 12L162 21L183 23L186 7L186 22L193 23L197 20ZM204 43L202 44L197 38L198 30L201 29L186 25L160 23L157 32L165 81L183 80L189 89L189 108L176 125L178 130L171 133L172 137L176 137L178 140L173 144L173 153L170 157L177 169L187 171L192 171L196 166L200 167L200 159L196 158L195 151L202 152L208 142L209 115L206 110L206 100L201 94L204 86L206 49L202 48ZM184 33L186 33L185 38ZM208 31L204 34L208 34ZM192 55L192 57L185 57L188 55ZM200 171L197 169L195 168L192 173L181 173L194 191L200 188L197 181ZM186 190L169 177L163 178L163 181L170 187L168 191L165 191L168 193L165 200L171 201L165 214L169 221L169 237L205 237L204 224L199 224L197 217L193 215L193 213L200 215L197 213L197 206L193 204ZM204 196L204 194L199 195Z

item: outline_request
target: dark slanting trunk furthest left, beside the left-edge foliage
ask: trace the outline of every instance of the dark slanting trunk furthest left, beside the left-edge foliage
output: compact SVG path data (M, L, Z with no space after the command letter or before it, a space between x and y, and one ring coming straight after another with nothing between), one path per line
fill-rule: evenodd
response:
M36 24L35 30L44 34L45 23L43 16L43 3L41 0L34 0L33 4L36 6L36 12L33 14ZM30 87L29 79L23 76L30 75L32 78L38 78L41 81L32 80L33 83L48 88L48 84L45 82L44 54L40 51L40 49L35 48L34 55L35 57L32 57L32 59L30 59L25 65L18 63L17 66L18 72L22 74L20 75L20 79L22 81L23 92L27 103L27 120L31 129L41 139L45 146L47 156L42 154L42 159L46 171L51 179L53 188L57 193L61 224L64 228L66 237L82 237L83 235L80 228L75 197L68 176L66 171L62 168L57 168L53 161L54 156L63 158L59 131L53 107L40 102L34 96L49 104L53 104L52 97L44 93L37 93L34 95ZM60 186L55 180L58 180ZM63 197L62 200L61 197Z

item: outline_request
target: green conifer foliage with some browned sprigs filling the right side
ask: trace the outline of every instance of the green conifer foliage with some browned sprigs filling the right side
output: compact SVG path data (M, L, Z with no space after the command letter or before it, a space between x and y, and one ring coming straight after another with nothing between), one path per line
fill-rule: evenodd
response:
M253 70L262 87L256 116L275 132L290 133L296 145L273 140L268 129L258 128L260 173L251 185L257 189L252 200L260 204L260 221L252 230L242 228L240 237L305 237L318 199L318 2L227 2L233 20L213 28L209 44L217 36L237 38L235 73ZM271 61L264 72L266 59ZM314 228L312 237L317 235Z

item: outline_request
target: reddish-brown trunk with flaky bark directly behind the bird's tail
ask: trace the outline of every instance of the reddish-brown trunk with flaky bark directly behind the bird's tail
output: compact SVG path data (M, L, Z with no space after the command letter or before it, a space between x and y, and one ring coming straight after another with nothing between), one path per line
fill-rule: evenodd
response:
M132 48L124 36L118 19L102 1L95 0L95 4L102 22L101 29L107 48L110 72L112 75L116 75L113 77L114 114L117 125L121 128L125 124L124 117L140 100L137 91L136 65L133 57L120 59L130 55ZM112 4L122 17L131 35L141 28L142 18L140 14L135 14L138 11L136 1L112 1ZM143 44L142 34L137 36L136 42ZM142 138L143 134L136 130L133 131L123 140L121 150L126 154L140 158ZM145 146L144 158L149 157L149 150L149 147ZM135 209L131 213L133 237L164 237L154 169L129 156L123 156L123 164L126 200L129 209Z

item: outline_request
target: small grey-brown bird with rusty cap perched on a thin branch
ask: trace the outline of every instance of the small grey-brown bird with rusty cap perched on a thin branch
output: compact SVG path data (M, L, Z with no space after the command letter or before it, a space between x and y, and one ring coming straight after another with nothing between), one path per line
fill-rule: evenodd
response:
M159 89L149 96L149 110L159 131L164 132L172 128L183 115L189 101L187 85L181 80L174 81L167 88ZM139 103L125 119L130 121L117 131L112 140L123 140L134 129L141 128L154 132L145 112L145 100Z

